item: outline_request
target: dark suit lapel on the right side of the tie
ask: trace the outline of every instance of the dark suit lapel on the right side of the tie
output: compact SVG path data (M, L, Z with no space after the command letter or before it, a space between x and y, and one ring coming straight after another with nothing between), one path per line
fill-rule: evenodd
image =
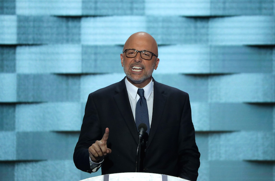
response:
M160 89L159 83L154 79L154 103L153 103L153 116L152 123L150 127L150 134L148 137L147 148L149 148L160 124L162 113L164 111L164 106L167 96L164 95L164 91Z

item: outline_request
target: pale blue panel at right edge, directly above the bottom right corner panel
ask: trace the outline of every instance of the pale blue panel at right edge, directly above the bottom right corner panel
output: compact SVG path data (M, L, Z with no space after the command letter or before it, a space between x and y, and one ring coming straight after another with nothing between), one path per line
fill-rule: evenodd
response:
M241 131L209 135L209 160L275 160L272 131Z

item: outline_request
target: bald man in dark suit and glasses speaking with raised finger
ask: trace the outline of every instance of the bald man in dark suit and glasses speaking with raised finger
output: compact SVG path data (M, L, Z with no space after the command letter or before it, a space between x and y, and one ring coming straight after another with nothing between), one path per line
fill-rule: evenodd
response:
M197 180L200 153L189 96L152 78L159 63L157 42L146 32L134 33L125 42L120 58L126 78L88 96L73 156L76 167L89 173L100 166L102 174L135 172L135 122L146 115L149 130L141 171ZM146 111L140 111L138 102L144 98Z

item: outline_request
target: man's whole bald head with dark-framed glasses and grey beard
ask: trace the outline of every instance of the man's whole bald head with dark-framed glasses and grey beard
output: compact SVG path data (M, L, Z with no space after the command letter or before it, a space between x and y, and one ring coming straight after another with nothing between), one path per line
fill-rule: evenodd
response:
M145 60L151 56L150 60ZM124 44L123 53L120 54L121 65L127 79L137 87L146 86L151 81L154 69L156 70L158 67L159 58L157 56L158 44L151 35L146 32L137 32L131 35Z

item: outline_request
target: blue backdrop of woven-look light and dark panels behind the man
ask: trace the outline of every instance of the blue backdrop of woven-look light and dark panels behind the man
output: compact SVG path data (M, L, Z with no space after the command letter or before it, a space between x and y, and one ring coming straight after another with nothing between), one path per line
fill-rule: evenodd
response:
M101 174L73 163L85 104L138 31L190 95L198 181L275 181L275 0L1 0L0 180Z

